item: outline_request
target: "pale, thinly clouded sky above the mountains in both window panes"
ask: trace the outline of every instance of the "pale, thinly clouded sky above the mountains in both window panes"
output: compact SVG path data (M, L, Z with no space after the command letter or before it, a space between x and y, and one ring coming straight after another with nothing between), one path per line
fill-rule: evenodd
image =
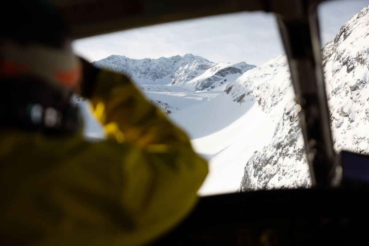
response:
M318 9L322 43L335 37L369 0L336 0ZM192 53L213 62L261 65L284 53L273 14L242 12L170 22L77 39L73 50L90 62L109 55L159 58Z

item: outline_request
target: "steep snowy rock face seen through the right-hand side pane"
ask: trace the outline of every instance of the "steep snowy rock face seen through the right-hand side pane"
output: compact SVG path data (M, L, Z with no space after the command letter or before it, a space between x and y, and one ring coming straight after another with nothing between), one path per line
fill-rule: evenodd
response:
M322 52L334 148L369 154L369 6Z

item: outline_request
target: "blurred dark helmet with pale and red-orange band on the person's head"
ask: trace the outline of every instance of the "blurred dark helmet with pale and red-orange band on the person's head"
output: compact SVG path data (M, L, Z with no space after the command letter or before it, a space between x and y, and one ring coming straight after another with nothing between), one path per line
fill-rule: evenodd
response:
M44 0L11 0L1 9L0 124L76 132L80 122L71 98L82 68L61 14Z

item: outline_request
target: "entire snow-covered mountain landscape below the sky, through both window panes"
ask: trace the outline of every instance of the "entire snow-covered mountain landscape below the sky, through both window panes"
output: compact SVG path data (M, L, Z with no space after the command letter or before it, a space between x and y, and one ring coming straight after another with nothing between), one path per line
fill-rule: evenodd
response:
M336 151L369 154L369 7L322 50ZM285 55L255 67L186 54L93 63L132 78L210 163L199 194L309 187Z

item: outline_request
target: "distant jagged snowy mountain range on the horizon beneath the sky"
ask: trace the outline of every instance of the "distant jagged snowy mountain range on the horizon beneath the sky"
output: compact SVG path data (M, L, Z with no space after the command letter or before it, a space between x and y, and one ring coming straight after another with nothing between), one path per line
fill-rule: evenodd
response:
M176 85L193 91L223 90L225 82L255 67L245 62L214 63L192 54L140 60L111 55L92 64L124 73L138 84Z

